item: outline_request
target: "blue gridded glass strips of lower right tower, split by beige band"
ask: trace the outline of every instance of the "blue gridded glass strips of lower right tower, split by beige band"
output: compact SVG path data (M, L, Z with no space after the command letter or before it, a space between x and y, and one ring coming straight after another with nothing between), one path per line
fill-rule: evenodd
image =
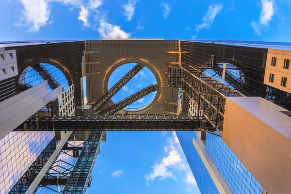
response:
M209 172L193 145L193 138L195 141L198 138L196 132L176 131L176 134L201 194L218 193ZM250 174L228 146L226 146L221 137L207 133L205 149L233 194L262 193L263 188L259 182Z

